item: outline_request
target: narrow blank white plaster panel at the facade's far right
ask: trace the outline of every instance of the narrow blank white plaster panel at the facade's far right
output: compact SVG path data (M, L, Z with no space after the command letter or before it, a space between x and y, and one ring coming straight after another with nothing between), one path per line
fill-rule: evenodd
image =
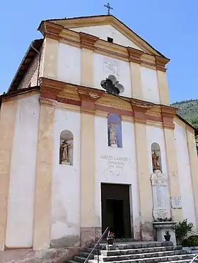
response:
M190 159L187 148L185 128L175 123L175 147L177 149L177 169L182 197L183 218L196 225L194 197L190 171Z

